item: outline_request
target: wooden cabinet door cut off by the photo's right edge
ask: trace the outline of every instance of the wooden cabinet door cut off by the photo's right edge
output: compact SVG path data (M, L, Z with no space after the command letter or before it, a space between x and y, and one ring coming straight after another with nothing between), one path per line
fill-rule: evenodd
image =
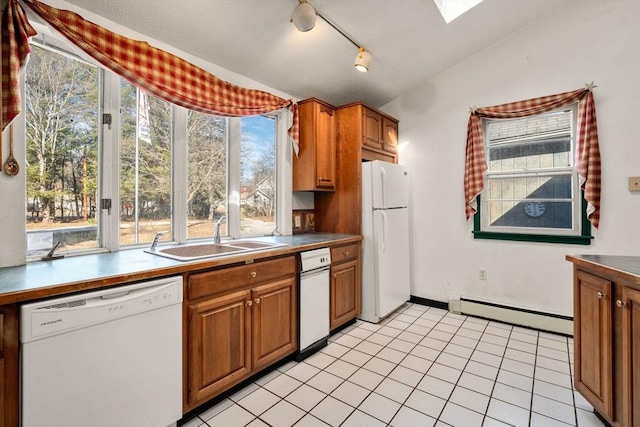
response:
M640 291L622 288L622 389L624 418L629 427L640 426Z

